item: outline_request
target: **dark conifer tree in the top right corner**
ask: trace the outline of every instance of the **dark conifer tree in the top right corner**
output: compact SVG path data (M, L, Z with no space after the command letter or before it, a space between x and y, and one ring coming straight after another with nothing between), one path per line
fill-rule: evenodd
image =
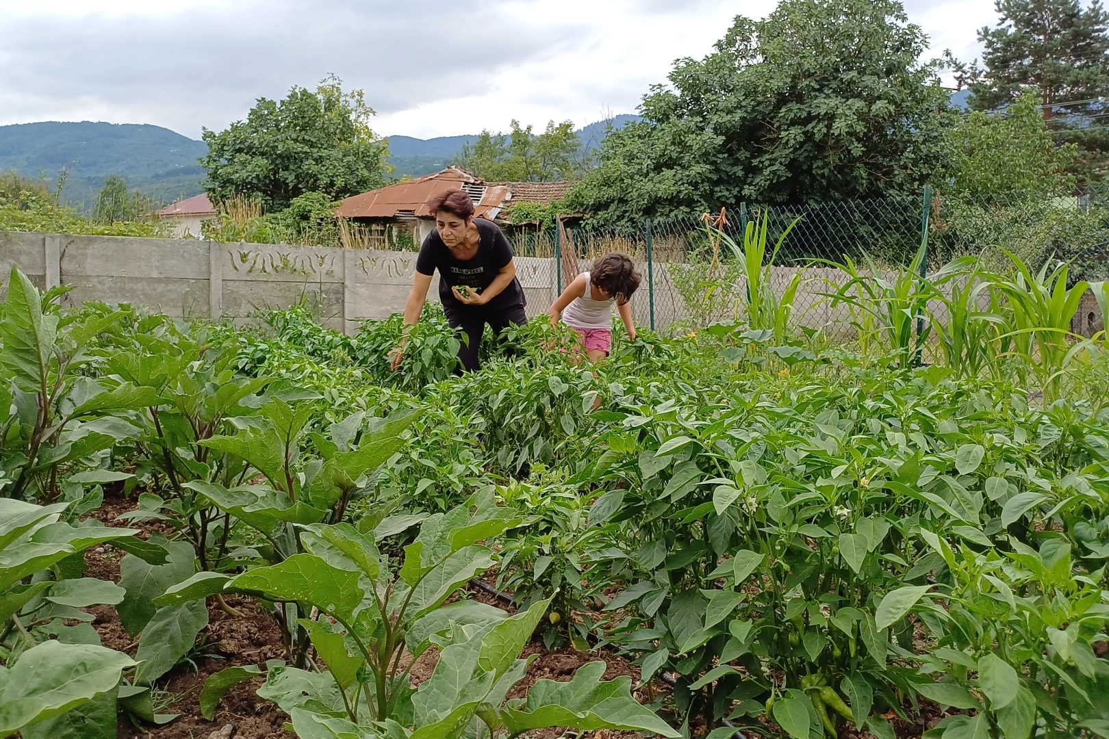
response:
M963 70L976 110L995 110L1035 88L1058 143L1075 143L1071 172L1102 179L1109 167L1109 13L1100 0L997 0L997 25L983 28L984 68Z

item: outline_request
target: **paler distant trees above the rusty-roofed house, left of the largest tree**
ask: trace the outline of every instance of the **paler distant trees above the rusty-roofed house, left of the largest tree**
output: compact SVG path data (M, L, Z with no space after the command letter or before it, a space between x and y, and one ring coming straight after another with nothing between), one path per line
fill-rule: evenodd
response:
M571 121L547 123L536 135L512 120L509 133L482 131L462 147L459 166L491 182L553 182L580 176L581 142Z

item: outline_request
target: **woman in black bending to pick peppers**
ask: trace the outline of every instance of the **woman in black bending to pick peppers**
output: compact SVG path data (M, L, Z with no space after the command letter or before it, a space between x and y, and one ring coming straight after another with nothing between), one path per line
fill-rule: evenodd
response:
M433 195L427 207L436 228L424 239L416 259L413 289L405 304L405 335L419 320L438 269L439 299L447 322L468 339L458 349L458 359L467 371L477 370L486 324L499 335L509 324L521 326L528 320L512 247L495 223L474 217L474 203L460 189ZM389 351L394 370L400 367L405 341L401 338L400 346Z

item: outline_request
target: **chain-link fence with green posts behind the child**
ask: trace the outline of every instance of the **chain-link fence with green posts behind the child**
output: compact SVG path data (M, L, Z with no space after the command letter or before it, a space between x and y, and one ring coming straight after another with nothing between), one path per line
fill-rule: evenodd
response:
M781 296L800 274L791 317L796 326L849 324L847 307L833 305L830 297L849 280L837 265L893 274L912 263L925 234L925 271L965 255L978 257L987 270L1008 271L1008 252L1034 268L1049 259L1069 260L1076 280L1109 277L1106 191L1003 198L947 197L925 188L913 197L806 206L741 203L726 208L725 219L718 222L721 238L706 228L705 217L643 219L615 227L567 219L546 228L510 228L509 236L530 314L546 311L594 259L623 252L643 276L632 300L637 322L675 331L743 314L747 296L739 250L747 224L763 217L770 250L792 224L769 281Z

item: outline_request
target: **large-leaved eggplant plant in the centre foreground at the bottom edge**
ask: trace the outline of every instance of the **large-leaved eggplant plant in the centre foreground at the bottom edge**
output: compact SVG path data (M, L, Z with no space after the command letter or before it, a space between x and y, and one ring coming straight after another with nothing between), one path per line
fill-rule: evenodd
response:
M313 613L316 617L302 619L301 626L327 670L273 666L258 690L289 715L302 737L391 737L397 731L515 737L567 726L676 738L631 697L629 678L600 681L601 663L582 667L570 682L541 680L527 699L507 699L529 664L517 656L550 599L516 616L465 599L444 603L494 564L492 552L478 542L519 525L521 520L511 515L495 504L492 490L485 490L466 505L425 520L396 564L381 555L377 541L407 528L408 517L386 519L367 532L348 524L309 524L301 531L303 553L233 578L197 576L171 588L160 603L234 591L295 601L303 613ZM409 671L433 645L439 648L438 663L414 690ZM232 670L210 678L210 699L250 676Z

